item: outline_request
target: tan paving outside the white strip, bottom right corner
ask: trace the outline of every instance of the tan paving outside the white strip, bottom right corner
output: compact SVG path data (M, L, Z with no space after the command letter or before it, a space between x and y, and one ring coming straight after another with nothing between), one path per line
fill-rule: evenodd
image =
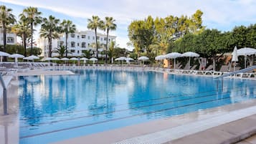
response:
M256 134L255 124L256 115L235 120L231 123L219 125L209 130L185 136L176 140L171 140L164 144L182 144L182 143L208 143L208 144L232 144L241 140L250 138ZM240 125L243 123L243 125ZM246 125L245 125L246 124ZM234 128L235 126L235 128ZM204 138L202 138L204 137ZM207 141L205 138L207 137Z

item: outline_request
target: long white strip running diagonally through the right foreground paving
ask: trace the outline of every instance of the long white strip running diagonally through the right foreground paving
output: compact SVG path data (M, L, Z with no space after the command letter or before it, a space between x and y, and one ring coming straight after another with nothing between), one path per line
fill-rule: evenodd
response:
M187 135L191 135L194 133L199 133L201 131L207 130L209 128L214 128L219 125L224 125L225 123L231 123L235 120L240 120L241 118L249 117L251 115L256 115L256 106L249 107L242 110L235 110L234 112L229 112L224 115L219 115L217 117L211 117L207 120L200 120L194 123L189 123L186 125L181 125L176 128L171 128L167 130L162 130L156 133L151 133L148 135L141 135L136 138L130 138L127 140L122 140L115 144L135 144L135 143L145 143L145 144L161 144L167 143L171 140L176 140ZM184 129L186 128L186 129ZM246 133L242 133L241 135L237 135L237 138L229 138L227 141L223 143L236 143L241 138L247 138L250 135L255 134L256 126L252 130L248 130Z

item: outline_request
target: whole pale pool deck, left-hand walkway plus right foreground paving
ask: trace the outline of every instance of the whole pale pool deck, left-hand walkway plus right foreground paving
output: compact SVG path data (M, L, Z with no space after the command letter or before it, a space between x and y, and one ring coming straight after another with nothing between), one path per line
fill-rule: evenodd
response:
M17 72L7 90L9 115L0 115L0 142L19 143L19 100L16 76L27 75L73 75L70 71L45 71L42 69ZM11 81L11 82L10 82ZM133 144L133 143L238 143L256 144L256 100L225 105L207 110L186 113L174 117L152 120L125 128L85 135L54 144ZM0 112L2 112L0 95ZM252 136L251 138L248 138ZM248 138L246 140L243 140ZM2 141L3 140L3 141ZM240 140L243 140L240 142Z

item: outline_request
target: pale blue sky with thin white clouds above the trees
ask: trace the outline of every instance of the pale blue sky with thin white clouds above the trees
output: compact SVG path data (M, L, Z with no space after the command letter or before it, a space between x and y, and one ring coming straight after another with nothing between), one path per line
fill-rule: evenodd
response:
M191 16L200 9L204 13L203 25L207 29L219 29L222 32L231 31L235 26L256 23L255 0L0 0L2 4L13 9L16 18L22 9L36 6L42 11L42 16L70 19L80 31L87 30L87 19L93 15L100 19L112 16L116 20L117 29L110 34L117 37L119 47L127 49L132 49L127 46L128 25L148 15L153 18Z

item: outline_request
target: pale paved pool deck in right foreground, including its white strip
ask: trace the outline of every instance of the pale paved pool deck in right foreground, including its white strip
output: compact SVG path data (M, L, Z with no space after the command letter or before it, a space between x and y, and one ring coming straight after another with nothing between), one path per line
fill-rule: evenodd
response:
M255 104L256 100L250 100L85 135L54 144L235 143L256 133Z

